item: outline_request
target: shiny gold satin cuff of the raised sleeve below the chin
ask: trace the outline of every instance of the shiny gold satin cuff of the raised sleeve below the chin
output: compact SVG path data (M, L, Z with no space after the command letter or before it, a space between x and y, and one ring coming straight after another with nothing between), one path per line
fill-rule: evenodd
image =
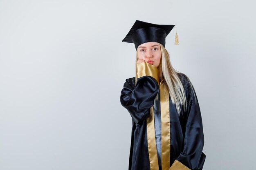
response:
M159 85L159 70L156 66L149 64L148 62L137 64L137 78L145 75L154 77Z

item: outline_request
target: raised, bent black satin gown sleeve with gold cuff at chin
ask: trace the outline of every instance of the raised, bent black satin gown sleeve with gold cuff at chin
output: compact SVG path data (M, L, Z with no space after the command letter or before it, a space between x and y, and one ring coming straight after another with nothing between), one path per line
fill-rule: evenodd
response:
M148 62L137 64L136 86L132 78L126 79L120 96L121 105L128 110L136 124L149 117L149 109L154 105L158 89L158 68Z

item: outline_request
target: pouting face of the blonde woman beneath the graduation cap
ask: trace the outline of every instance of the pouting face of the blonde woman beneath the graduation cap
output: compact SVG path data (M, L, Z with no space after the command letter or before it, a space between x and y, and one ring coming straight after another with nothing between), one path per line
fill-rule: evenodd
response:
M156 67L160 64L161 55L160 45L158 42L146 42L138 46L139 60L145 60Z

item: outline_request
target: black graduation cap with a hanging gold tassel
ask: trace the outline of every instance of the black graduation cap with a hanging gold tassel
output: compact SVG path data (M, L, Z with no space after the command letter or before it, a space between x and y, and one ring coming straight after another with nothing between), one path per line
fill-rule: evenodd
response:
M174 26L175 25L158 25L136 20L122 42L134 43L136 50L140 44L146 42L158 42L165 46L165 38ZM179 44L177 31L175 44Z

